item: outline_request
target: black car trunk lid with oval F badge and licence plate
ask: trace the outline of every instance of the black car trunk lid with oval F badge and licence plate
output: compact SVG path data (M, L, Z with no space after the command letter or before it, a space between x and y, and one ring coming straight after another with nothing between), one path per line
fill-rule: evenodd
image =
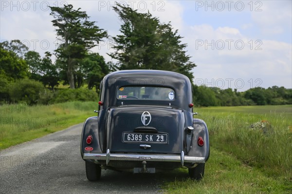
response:
M110 152L172 153L183 150L183 111L171 107L119 107L107 116Z

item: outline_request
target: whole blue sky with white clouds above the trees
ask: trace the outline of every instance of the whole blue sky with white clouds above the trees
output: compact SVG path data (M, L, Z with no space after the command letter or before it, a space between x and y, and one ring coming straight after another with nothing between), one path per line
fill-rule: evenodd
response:
M91 21L120 34L116 3L150 14L178 30L197 66L197 85L246 91L274 85L292 88L292 0L0 0L0 41L20 40L44 56L56 38L48 6L72 4ZM92 49L112 61L112 39Z

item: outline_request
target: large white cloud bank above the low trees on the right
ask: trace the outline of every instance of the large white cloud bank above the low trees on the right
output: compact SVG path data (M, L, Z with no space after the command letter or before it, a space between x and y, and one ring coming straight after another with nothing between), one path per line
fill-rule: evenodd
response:
M209 86L218 86L216 80L223 79L227 87L228 79L242 79L245 83L243 88L240 88L241 85L237 87L235 82L231 85L239 90L248 89L256 79L262 81L259 85L261 87L292 87L291 44L252 40L242 35L238 29L214 29L207 24L190 27L185 38L188 40L188 53L198 65L194 68L197 81L203 80Z

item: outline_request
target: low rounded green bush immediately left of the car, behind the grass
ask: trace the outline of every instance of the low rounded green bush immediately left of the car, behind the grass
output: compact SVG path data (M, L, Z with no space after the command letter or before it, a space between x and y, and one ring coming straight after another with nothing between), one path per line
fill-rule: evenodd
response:
M96 101L97 99L97 93L87 88L62 89L55 93L53 103L68 101Z

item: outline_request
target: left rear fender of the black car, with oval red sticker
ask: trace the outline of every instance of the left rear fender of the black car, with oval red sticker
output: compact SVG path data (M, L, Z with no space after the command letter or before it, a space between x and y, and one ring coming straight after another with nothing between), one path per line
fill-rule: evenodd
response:
M86 143L87 137L92 136L92 143L88 145ZM86 150L92 149L92 150ZM98 137L98 117L91 116L84 122L82 134L81 134L81 142L80 142L80 151L81 157L83 158L84 153L102 153L100 144L99 144L99 137Z

